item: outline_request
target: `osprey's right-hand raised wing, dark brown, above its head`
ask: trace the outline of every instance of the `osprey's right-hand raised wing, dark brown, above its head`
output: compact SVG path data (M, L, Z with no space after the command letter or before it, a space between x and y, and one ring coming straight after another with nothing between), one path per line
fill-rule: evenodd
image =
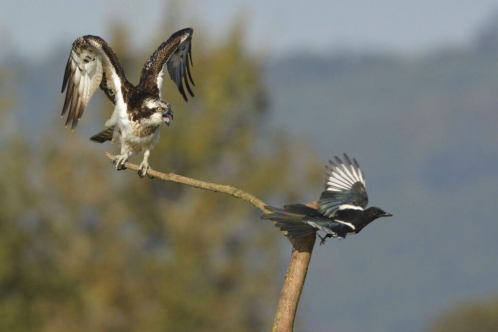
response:
M194 29L185 28L171 35L168 40L163 42L145 61L140 74L140 83L138 89L156 94L161 98L162 78L166 68L169 77L175 82L178 91L187 101L187 95L183 87L194 97L188 81L194 84L190 74L190 65L192 65L192 34ZM190 58L190 65L189 59ZM188 76L188 78L187 78Z

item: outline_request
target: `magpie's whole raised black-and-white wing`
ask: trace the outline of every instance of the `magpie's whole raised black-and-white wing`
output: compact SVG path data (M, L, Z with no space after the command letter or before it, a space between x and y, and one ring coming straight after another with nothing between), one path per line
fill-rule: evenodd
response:
M365 175L356 159L353 162L344 154L343 162L335 157L335 162L329 160L327 169L327 183L325 191L318 200L318 212L333 219L337 211L342 209L364 210L368 204L365 191Z

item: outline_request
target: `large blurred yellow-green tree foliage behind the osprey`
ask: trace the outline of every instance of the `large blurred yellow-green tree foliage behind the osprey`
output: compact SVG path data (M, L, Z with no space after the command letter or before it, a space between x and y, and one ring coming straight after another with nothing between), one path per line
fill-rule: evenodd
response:
M132 55L123 30L106 39L133 82L173 31ZM196 97L184 103L164 80L175 117L160 128L149 162L263 200L295 199L291 188L319 179L311 172L320 167L309 147L265 126L262 71L244 52L242 31L235 27L207 47L195 30ZM0 145L0 331L269 329L281 286L275 275L287 261L275 246L281 234L259 220L260 211L226 195L117 172L103 151L118 147L82 135L97 113L103 125L112 111L107 101L99 111L90 106L75 133L57 118L27 141L10 118L15 101L7 97L15 95L0 70L0 122L10 128L2 127ZM62 97L54 118L61 106Z

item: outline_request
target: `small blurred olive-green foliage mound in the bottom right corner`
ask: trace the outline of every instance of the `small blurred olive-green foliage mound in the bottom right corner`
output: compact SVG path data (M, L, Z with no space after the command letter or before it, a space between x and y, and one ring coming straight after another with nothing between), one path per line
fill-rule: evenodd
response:
M498 332L498 296L446 310L434 319L431 332Z

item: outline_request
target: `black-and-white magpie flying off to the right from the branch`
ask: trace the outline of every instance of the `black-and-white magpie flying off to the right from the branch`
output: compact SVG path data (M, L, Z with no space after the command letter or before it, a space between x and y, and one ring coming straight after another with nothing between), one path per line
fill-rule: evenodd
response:
M365 175L356 159L353 162L344 154L343 162L335 156L326 165L325 191L317 202L318 209L302 204L290 204L280 208L265 206L269 213L261 219L275 221L275 226L286 230L290 239L323 230L327 234L321 238L320 245L328 237L343 239L348 234L359 233L366 225L380 217L391 217L377 207L365 210L368 196L365 191Z

